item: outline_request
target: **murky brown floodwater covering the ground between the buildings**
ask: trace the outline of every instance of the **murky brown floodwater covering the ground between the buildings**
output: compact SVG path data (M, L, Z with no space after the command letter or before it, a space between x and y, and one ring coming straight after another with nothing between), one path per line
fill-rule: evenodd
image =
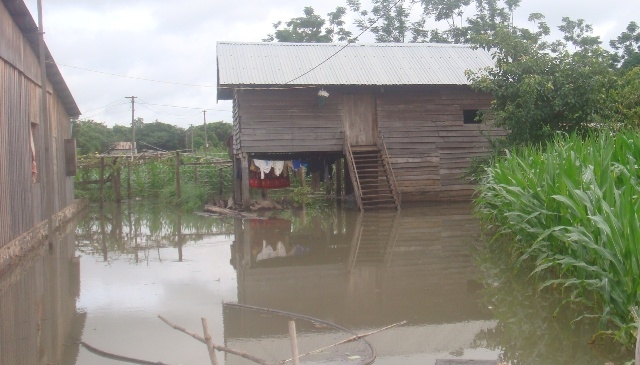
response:
M269 363L388 325L302 363L622 363L619 346L587 341L557 298L505 275L478 250L468 204L401 213L309 208L239 219L145 203L96 206L0 278L0 364L120 364L84 344L165 364L210 364L206 346L158 318ZM498 262L496 262L498 261ZM565 306L566 307L566 306ZM573 318L573 317L572 317ZM406 321L406 322L404 322ZM221 364L250 364L218 353ZM290 364L291 362L288 362ZM471 362L473 363L473 362ZM476 362L479 363L479 362Z

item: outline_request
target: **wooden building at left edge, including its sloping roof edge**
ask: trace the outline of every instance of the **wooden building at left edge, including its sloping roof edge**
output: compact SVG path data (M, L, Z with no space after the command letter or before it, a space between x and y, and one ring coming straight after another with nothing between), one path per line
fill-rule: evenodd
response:
M0 263L10 243L48 221L47 210L74 202L71 119L80 111L45 47L50 128L43 125L38 49L24 1L0 0Z

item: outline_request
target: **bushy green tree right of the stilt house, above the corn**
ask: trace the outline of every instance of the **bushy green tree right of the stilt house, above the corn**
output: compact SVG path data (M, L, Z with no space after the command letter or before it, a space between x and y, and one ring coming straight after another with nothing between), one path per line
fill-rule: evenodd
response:
M510 131L512 145L540 144L558 131L585 134L610 122L616 75L609 54L582 20L564 18L560 28L564 42L545 42L544 23L537 32L500 26L478 39L493 50L495 66L468 76L472 87L493 95L495 123Z

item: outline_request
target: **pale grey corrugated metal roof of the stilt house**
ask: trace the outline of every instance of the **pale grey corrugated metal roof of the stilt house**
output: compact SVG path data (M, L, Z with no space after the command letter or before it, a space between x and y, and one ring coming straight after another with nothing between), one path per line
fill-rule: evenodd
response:
M218 42L218 87L238 85L467 85L492 66L467 45ZM318 66L319 65L319 66Z

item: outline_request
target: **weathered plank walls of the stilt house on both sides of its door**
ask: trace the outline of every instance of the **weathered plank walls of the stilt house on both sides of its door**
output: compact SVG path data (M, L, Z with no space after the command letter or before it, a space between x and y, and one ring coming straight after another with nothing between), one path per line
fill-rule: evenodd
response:
M486 135L505 135L490 122L464 124L464 110L491 105L490 95L468 86L333 88L322 107L317 90L236 91L235 153L341 152L343 95L369 92L402 201L468 200L473 185L465 169L488 152Z

